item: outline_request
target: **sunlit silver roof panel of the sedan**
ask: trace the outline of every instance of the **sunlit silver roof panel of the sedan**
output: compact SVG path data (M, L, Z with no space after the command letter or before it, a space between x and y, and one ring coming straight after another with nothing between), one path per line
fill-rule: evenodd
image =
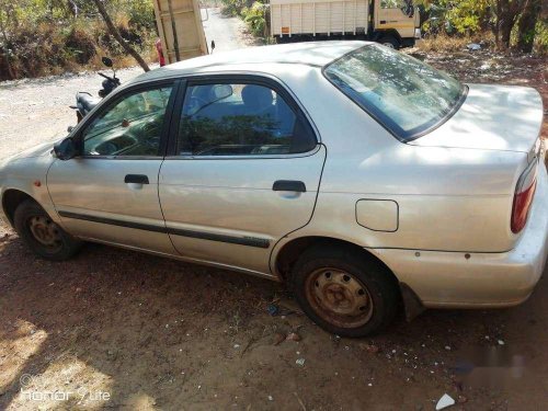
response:
M363 47L370 42L327 41L248 47L232 52L215 52L148 71L132 81L144 82L162 78L199 72L230 71L235 66L241 70L250 65L251 71L261 71L261 65L307 65L323 67L339 57Z

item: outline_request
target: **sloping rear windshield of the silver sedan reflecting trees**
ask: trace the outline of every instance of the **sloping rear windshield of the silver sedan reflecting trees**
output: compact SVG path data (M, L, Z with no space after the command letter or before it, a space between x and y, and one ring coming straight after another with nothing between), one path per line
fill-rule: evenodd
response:
M351 52L323 73L403 141L445 122L466 98L466 88L450 76L380 45Z

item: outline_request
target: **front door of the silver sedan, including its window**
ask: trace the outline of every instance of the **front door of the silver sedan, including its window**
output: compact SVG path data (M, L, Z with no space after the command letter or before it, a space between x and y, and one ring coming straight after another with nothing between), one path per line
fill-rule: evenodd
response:
M80 155L56 160L47 185L62 226L75 236L174 253L158 201L173 82L113 96L75 136Z

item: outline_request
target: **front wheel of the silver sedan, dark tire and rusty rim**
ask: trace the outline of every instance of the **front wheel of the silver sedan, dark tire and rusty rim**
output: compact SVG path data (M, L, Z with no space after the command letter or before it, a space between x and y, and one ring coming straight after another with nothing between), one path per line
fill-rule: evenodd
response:
M30 199L15 209L13 225L31 250L46 260L68 260L82 247L81 241L62 230L44 208Z

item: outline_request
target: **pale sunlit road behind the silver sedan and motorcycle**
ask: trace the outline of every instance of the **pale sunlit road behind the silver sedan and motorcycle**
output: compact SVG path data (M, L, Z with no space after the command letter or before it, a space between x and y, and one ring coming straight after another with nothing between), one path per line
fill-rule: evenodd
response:
M209 9L208 14L204 28L208 42L215 39L216 53L246 46L243 23L239 19L224 18L219 9ZM121 70L118 77L125 82L141 72L135 67ZM95 72L85 72L1 82L0 159L62 137L67 127L76 123L76 114L69 109L76 93L96 93L101 81Z

